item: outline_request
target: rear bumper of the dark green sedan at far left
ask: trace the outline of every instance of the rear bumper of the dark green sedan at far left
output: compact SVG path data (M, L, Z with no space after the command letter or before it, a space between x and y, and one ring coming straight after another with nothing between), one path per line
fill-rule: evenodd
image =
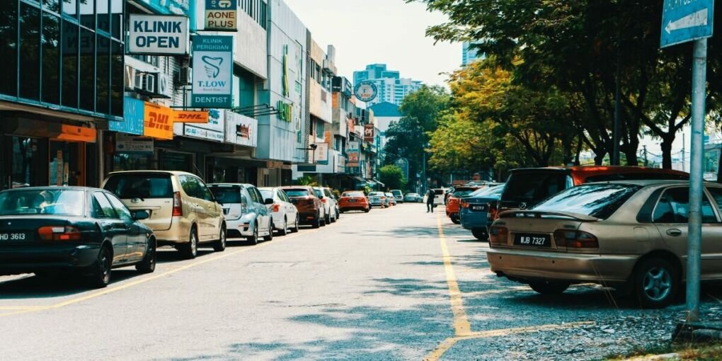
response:
M0 248L0 274L84 268L95 263L99 250L99 244L3 247Z

